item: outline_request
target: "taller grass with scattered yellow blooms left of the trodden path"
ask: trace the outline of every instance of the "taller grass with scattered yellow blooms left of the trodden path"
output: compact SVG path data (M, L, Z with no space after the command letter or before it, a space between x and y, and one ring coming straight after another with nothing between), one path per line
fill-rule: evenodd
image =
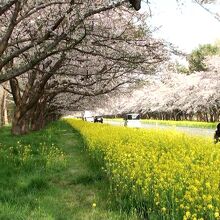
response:
M53 191L50 176L67 165L51 129L22 137L12 136L10 127L0 129L0 219L51 217L40 203Z

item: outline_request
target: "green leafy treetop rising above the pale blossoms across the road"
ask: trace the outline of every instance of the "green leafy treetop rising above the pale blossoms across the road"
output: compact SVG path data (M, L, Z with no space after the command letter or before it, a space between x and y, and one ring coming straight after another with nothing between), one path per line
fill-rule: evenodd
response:
M193 50L189 55L189 71L205 71L207 67L204 63L205 56L217 55L219 54L219 47L216 45L205 44L200 45L197 49Z

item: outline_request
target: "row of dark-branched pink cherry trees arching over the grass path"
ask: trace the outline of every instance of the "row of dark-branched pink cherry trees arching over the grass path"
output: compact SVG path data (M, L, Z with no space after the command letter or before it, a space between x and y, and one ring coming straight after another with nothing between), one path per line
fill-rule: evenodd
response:
M143 79L167 59L140 1L11 0L0 7L0 83L14 103L12 133L25 134L75 108Z

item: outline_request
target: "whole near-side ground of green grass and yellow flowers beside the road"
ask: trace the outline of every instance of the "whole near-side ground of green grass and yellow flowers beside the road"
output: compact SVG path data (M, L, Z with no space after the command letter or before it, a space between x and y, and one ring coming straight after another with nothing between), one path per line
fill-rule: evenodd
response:
M0 219L220 219L220 144L65 120L0 129Z

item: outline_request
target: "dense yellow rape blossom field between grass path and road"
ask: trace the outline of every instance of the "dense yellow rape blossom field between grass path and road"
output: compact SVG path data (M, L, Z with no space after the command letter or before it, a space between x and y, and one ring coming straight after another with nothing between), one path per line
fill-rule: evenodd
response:
M147 219L220 219L220 144L175 131L67 122L83 135L120 208Z

